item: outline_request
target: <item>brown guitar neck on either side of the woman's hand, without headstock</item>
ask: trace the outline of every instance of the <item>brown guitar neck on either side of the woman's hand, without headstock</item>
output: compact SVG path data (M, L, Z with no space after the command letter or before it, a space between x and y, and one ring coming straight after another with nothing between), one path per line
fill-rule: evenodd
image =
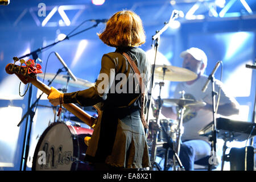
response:
M42 92L49 95L51 88L49 88L49 86L47 86L43 82L35 79L31 81L31 84L36 86L36 88L42 90ZM84 110L82 110L75 104L63 104L63 107L65 107L68 111L74 114L77 118L81 119L81 121L86 123L86 125L92 127L96 118L92 117L90 114L86 113Z

